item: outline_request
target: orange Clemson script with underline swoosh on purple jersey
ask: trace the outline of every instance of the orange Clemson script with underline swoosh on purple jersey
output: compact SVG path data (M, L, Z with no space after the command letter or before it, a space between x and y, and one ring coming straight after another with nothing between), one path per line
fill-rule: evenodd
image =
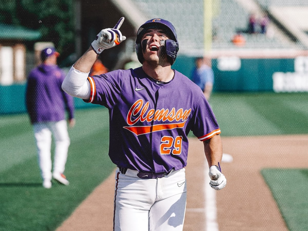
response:
M147 134L150 132L157 132L162 130L171 130L174 128L183 128L188 116L191 114L191 108L188 110L184 110L183 108L175 110L172 107L169 109L149 109L149 102L144 103L143 99L138 99L135 103L133 103L132 107L129 109L126 122L127 127L123 127L137 136L141 134ZM136 124L138 121L140 122L152 122L152 121L169 121L175 122L170 124L155 124L153 126L132 126Z

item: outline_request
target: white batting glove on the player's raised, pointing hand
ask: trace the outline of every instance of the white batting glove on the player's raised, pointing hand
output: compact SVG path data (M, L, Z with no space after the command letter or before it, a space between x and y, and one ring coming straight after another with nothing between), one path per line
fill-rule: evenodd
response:
M115 27L103 29L96 35L96 39L91 43L91 46L97 54L102 53L105 49L119 45L126 39L119 30L123 21L124 17L120 18Z

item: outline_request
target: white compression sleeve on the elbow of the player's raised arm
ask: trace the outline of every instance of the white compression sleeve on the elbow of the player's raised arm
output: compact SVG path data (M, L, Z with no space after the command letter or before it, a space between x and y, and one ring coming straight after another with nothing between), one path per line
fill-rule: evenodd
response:
M77 98L90 99L91 86L87 81L88 76L89 73L78 71L72 66L62 83L63 91Z

